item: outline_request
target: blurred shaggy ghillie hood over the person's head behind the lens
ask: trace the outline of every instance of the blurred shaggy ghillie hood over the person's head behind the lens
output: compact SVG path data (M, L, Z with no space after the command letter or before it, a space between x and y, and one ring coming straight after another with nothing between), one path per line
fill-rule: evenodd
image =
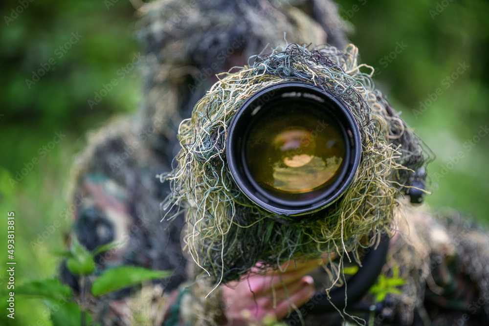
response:
M279 44L284 33L289 43L343 48L346 25L336 7L332 0L156 0L144 4L137 23L146 54L141 128L156 128L148 139L151 146L175 156L172 141L179 122L190 116L214 83L215 74L243 65L233 62L233 56L247 59L268 44Z

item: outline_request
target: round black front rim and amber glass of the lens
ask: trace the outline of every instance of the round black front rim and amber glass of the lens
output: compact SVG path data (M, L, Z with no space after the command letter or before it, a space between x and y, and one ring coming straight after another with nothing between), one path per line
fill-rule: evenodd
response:
M299 216L348 189L361 142L341 100L312 84L284 82L244 102L228 129L226 155L244 195L272 213Z

